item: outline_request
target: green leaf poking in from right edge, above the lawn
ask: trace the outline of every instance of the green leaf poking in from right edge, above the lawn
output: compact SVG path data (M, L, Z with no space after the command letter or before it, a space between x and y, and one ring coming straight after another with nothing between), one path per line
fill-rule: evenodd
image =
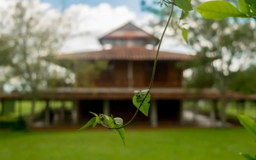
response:
M238 114L237 118L246 130L256 135L256 122L252 118L242 114Z

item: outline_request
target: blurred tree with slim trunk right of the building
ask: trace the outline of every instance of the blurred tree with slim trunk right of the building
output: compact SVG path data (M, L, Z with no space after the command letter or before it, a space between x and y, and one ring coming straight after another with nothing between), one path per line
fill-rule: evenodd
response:
M193 1L194 6L198 4L200 1ZM163 10L166 9L168 8ZM147 11L151 12L151 10ZM161 14L163 13L161 12ZM166 14L162 15L162 17L166 16ZM172 21L174 24L178 24L175 21L178 22L179 19L173 18ZM210 87L220 90L221 119L225 126L226 95L228 89L233 88L233 86L230 87L232 78L255 62L255 22L239 18L226 18L220 21L206 20L198 16L195 10L190 12L186 20L180 20L179 23L185 22L188 23L185 27L188 29L189 44L197 55L197 59L180 64L192 71L191 76L186 80L186 86L190 88ZM155 25L161 26L161 23ZM178 26L173 25L173 28L176 30ZM175 33L174 35L177 35ZM242 73L236 75L237 81ZM238 87L238 84L235 86Z

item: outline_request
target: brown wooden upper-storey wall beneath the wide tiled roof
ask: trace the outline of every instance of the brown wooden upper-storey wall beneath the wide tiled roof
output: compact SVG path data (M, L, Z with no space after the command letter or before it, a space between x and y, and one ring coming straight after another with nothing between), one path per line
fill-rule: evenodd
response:
M102 71L102 76L94 80L94 86L128 87L128 61L112 61L110 62L110 65L112 65L112 67L109 67L107 70ZM149 86L153 65L153 61L133 62L134 88ZM176 62L158 61L153 86L164 88L182 87L182 74L182 69L176 67ZM81 78L79 79L78 76L77 80L81 80ZM82 86L80 85L79 87Z

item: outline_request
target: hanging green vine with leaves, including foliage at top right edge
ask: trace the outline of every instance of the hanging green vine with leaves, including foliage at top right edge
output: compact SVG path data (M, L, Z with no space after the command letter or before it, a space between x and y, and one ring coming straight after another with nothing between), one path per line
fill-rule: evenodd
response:
M145 3L146 2L144 0L142 0L142 4L144 5ZM132 121L137 116L139 111L141 111L143 114L148 116L148 109L150 106L150 104L149 104L150 94L149 93L150 93L150 90L153 85L155 71L156 71L156 62L158 59L160 46L162 44L162 40L163 40L164 34L166 32L166 29L168 28L168 25L172 19L172 21L170 23L172 28L174 28L175 32L177 29L182 30L182 36L183 36L184 40L186 41L186 43L188 43L188 38L187 38L188 31L185 28L183 28L182 26L180 26L180 20L185 19L189 14L188 11L192 10L191 0L175 0L175 2L174 2L174 0L158 0L158 4L160 4L160 6L171 5L171 12L170 12L170 16L168 18L167 24L162 33L162 36L160 38L158 49L156 51L156 58L154 61L154 68L153 68L153 72L152 72L150 86L149 86L148 90L134 91L135 95L133 97L132 102L133 102L134 106L136 106L138 108L136 110L136 113L134 114L132 119L127 124L123 125L122 118L114 118L114 116L112 116L112 115L108 116L105 114L98 115L98 114L91 112L92 114L94 114L95 117L92 118L87 124L85 124L80 130L87 128L91 125L94 128L97 124L101 124L105 128L114 130L114 132L116 132L116 130L117 130L122 138L122 141L124 142L124 140L125 140L124 127L126 127L127 125L132 123ZM178 21L174 21L174 19L172 18L174 6L177 6L178 8L182 9L182 13L181 13L181 16ZM226 1L222 1L222 0L213 0L213 1L208 1L208 2L204 2L203 4L200 4L199 6L196 7L196 10L202 15L203 18L213 19L213 20L221 20L226 17L241 17L241 18L255 18L256 17L256 0L239 0L238 7L240 10L238 10L238 8L236 8L230 2L226 2ZM186 23L184 23L184 24L186 24ZM182 25L184 25L184 24L182 24ZM174 27L174 26L176 26L176 27ZM106 126L104 124L105 122L108 124L108 126ZM125 142L124 142L124 144L125 144Z

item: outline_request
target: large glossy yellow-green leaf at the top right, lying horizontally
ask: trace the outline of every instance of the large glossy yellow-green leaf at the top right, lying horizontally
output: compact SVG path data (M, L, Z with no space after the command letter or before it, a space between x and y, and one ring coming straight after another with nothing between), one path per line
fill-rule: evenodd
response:
M222 0L204 2L197 6L196 10L203 18L213 20L222 20L226 17L248 17L231 3Z

